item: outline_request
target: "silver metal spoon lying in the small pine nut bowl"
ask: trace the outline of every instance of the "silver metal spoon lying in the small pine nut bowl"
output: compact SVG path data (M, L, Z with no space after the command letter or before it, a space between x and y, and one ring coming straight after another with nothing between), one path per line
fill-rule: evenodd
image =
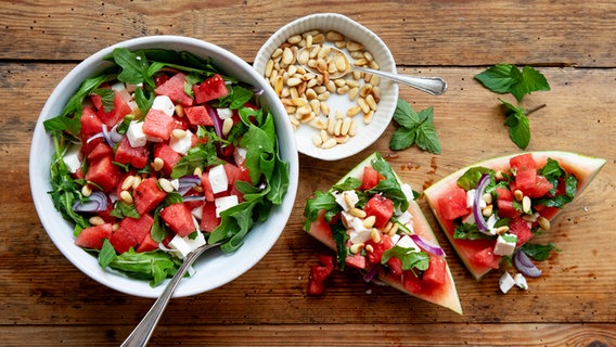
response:
M392 80L397 81L399 83L416 88L419 90L425 91L426 93L429 93L429 94L433 94L433 95L440 95L445 91L447 91L447 82L440 77L415 77L415 76L410 76L410 75L393 74L393 73L386 73L386 72L382 72L382 70L377 70L377 69L356 66L354 64L350 64L350 60L344 51L337 49L336 47L330 47L330 46L328 46L328 49L331 50L329 55L328 55L329 61L335 62L336 59L344 59L345 65L346 65L346 67L343 68L342 70L338 68L336 72L330 73L330 79L341 78L341 77L344 77L345 75L347 75L348 73L351 73L352 70L359 70L359 72L363 72L363 73L367 73L367 74L372 74L372 75L376 75L376 76L380 76L380 77L392 79ZM304 62L303 60L300 61L299 57L303 55L304 51L309 52L309 50L306 49L306 48L301 48L297 52L299 64L301 64L301 66L304 66L307 70L309 70L313 74L319 74L319 75L323 74L324 73L323 68L316 68L316 67L309 66L307 64L307 62ZM341 62L338 61L338 63L341 63Z

